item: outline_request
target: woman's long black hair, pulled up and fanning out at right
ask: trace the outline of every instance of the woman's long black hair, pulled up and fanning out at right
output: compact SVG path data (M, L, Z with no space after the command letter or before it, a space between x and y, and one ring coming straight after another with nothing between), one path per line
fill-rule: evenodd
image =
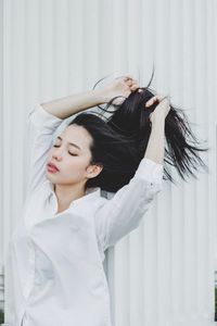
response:
M116 192L133 177L149 142L150 114L157 105L154 103L144 109L155 95L150 88L152 78L146 87L140 87L140 92L131 92L120 104L114 104L116 98L111 99L105 108L99 105L102 113L82 112L69 123L84 126L89 131L92 137L90 164L103 166L98 176L87 180L86 188L101 187ZM170 108L165 120L164 178L174 183L170 166L184 180L190 176L196 177L200 166L206 168L200 152L207 151L207 148L197 141L183 110L171 103ZM111 116L105 118L103 112L111 113Z

